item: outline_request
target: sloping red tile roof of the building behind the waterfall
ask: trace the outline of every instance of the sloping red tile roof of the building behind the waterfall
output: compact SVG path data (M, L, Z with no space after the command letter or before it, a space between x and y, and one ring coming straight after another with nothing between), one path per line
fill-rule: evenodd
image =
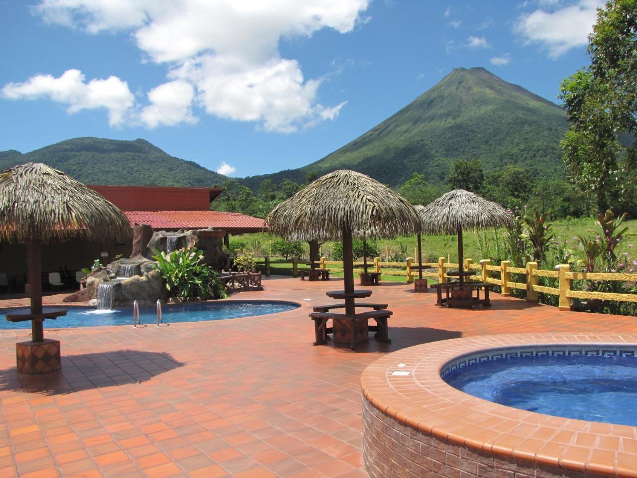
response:
M222 229L231 233L262 231L264 220L238 212L220 211L125 211L134 224L150 224L153 229Z

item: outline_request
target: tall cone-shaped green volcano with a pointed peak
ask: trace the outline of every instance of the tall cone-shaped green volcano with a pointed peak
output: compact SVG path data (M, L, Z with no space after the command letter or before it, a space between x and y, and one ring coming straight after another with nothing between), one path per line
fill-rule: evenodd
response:
M484 68L456 68L402 110L328 156L296 170L243 180L303 182L348 168L399 185L417 171L441 180L455 159L478 158L486 173L516 164L537 177L563 175L559 141L568 127L562 108Z

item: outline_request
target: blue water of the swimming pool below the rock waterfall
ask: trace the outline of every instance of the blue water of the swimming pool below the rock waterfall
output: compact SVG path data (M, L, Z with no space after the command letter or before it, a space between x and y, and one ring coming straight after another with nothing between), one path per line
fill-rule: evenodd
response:
M290 302L259 300L190 303L164 305L162 307L162 317L164 323L221 321L224 319L236 319L237 317L249 317L250 315L276 314L276 312L285 312L286 310L292 310L297 307L299 307L299 305ZM49 307L45 307L45 310L47 310L47 308ZM16 310L24 309L13 308L0 310L0 329L31 328L31 322L13 323L6 321L4 314L10 314ZM132 308L96 310L93 307L69 307L67 310L68 312L64 317L59 317L59 319L56 320L46 320L44 324L45 328L132 325ZM143 324L157 323L156 308L141 308L140 314Z

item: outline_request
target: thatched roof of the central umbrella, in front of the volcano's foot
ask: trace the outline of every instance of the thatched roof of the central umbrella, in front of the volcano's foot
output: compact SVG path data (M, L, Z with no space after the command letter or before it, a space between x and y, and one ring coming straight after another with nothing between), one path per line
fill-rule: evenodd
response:
M266 223L271 233L288 240L339 240L343 229L364 239L420 231L420 219L407 199L349 170L318 178L276 206Z

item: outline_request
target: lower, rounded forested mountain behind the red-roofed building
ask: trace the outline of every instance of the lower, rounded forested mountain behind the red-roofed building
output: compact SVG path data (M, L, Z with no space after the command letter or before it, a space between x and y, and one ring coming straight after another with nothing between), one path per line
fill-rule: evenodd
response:
M84 184L210 187L227 179L145 140L74 138L26 154L0 152L0 170L29 161L48 164Z

